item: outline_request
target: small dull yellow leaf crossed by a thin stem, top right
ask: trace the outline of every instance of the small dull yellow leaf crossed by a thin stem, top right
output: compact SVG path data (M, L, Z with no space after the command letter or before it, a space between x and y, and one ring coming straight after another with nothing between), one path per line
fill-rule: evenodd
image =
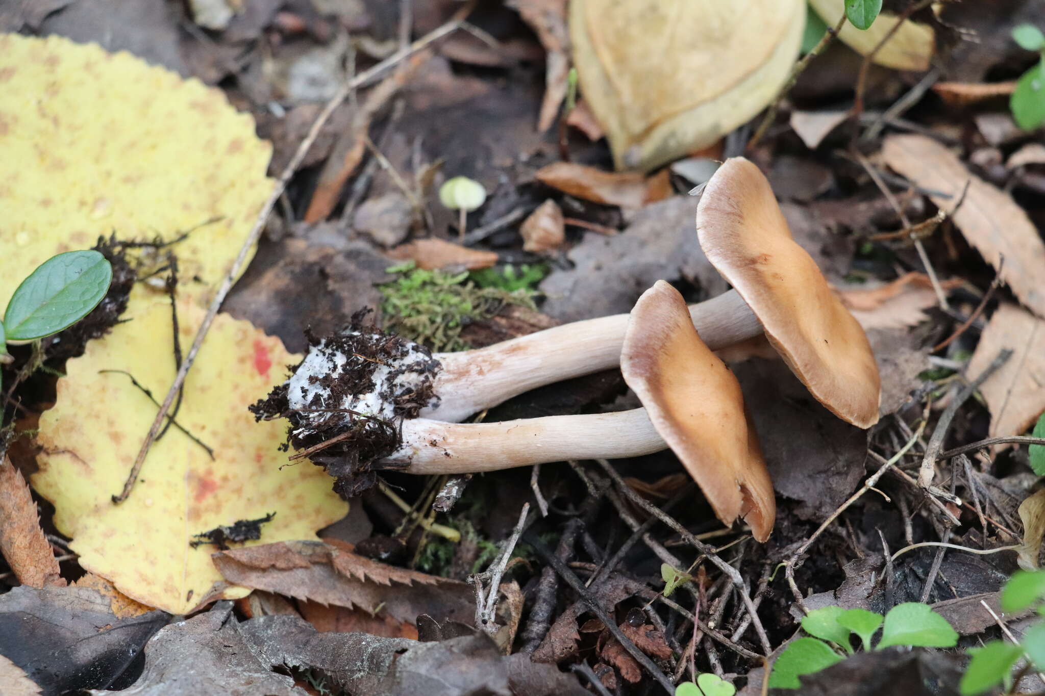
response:
M834 26L845 13L845 0L809 0L809 4L829 26ZM867 55L898 21L900 18L896 15L881 13L867 29L858 29L845 22L838 38L857 53ZM932 27L906 20L878 51L874 62L896 70L928 70L934 52L935 34Z

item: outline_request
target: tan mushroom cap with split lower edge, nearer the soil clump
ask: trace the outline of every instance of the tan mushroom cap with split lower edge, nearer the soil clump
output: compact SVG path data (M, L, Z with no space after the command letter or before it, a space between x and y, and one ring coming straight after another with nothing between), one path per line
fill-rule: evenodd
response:
M769 538L773 484L740 383L700 340L682 295L664 281L631 310L621 371L718 519L732 525L741 517L754 538Z

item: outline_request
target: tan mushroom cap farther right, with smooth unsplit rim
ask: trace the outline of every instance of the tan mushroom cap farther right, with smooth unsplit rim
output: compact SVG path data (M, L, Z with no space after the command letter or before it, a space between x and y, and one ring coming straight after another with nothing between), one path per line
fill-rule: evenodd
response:
M878 423L881 380L867 336L791 237L758 167L744 158L719 167L697 207L697 235L810 393L855 426Z

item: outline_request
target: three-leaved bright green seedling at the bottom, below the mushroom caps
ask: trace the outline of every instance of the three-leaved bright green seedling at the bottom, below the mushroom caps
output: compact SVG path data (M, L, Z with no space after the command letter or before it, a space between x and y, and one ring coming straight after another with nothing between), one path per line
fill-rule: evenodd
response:
M860 639L865 651L895 645L951 648L958 642L958 633L947 619L919 602L898 604L884 618L866 609L826 606L804 617L802 628L813 638L796 639L781 653L769 675L771 689L800 688L799 676L819 672L844 659L844 654L853 654L854 638ZM882 633L873 648L879 628Z

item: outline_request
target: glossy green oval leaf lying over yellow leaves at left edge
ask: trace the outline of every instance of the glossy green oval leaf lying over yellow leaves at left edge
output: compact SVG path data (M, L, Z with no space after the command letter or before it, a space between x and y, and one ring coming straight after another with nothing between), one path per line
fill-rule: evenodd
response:
M75 323L101 302L112 280L112 266L97 251L51 257L11 295L4 313L7 340L36 340Z

